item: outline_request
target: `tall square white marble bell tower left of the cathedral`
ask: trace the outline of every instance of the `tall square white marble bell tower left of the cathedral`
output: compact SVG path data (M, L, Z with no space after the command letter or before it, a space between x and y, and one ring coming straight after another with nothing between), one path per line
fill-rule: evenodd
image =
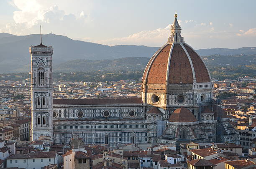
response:
M30 46L32 141L53 137L52 121L52 46Z

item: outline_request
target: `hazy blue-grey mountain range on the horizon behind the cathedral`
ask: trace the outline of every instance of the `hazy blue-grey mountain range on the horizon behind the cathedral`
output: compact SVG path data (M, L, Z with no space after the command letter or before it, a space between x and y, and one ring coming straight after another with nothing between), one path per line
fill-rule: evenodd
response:
M147 62L156 50L159 49L159 47L148 47L143 45L108 46L80 40L72 40L66 36L55 34L42 35L42 42L44 45L51 45L54 48L53 63L54 70L56 71L77 70L77 68L74 68L74 65L76 64L80 65L79 68L81 68L81 71L97 70L103 68L103 65L108 67L111 66L113 69L115 69L115 66L118 66L118 68L125 68L125 65L123 65L125 62L129 64L131 63L130 67L136 69L140 64L143 65L144 62ZM30 45L38 44L40 44L40 35L38 34L18 36L9 33L0 33L0 73L28 72L30 70L28 47ZM200 49L197 50L197 52L202 56L215 54L256 55L256 48L212 48ZM138 61L138 57L145 59ZM97 63L99 65L97 65Z

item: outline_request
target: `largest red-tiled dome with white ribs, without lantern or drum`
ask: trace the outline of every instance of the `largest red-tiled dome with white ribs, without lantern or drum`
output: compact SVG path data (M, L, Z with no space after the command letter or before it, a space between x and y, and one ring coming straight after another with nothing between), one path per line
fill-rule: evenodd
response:
M146 84L192 84L210 82L200 56L186 43L166 43L150 59L143 73Z

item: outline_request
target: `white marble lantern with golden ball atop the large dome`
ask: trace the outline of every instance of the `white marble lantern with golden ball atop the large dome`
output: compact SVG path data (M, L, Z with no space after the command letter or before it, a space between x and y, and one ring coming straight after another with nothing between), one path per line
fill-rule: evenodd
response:
M171 36L168 38L168 43L182 43L181 28L177 20L177 13L174 14L174 22L171 25Z

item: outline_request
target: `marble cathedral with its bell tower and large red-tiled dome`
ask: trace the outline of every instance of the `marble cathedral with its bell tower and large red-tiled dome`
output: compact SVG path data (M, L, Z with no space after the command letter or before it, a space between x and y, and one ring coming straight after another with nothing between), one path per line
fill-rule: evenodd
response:
M214 104L213 83L200 55L184 42L174 15L170 37L151 57L141 98L53 99L53 47L30 46L32 140L69 144L235 143L239 135Z

